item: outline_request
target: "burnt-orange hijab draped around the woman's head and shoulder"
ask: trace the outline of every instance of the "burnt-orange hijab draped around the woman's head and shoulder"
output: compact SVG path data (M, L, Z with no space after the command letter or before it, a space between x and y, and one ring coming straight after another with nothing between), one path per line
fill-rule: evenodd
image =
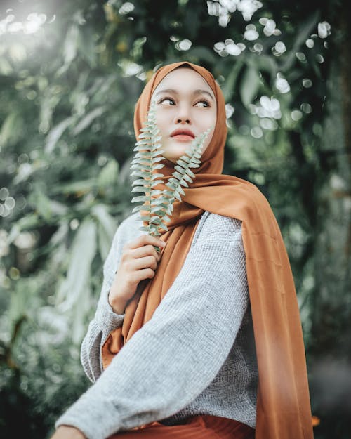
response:
M152 318L183 266L201 214L210 211L237 218L242 221L258 362L256 439L311 439L305 348L289 259L277 221L262 193L247 181L221 173L227 137L225 101L212 74L192 63L174 63L157 70L136 104L135 136L143 126L154 89L180 65L198 72L216 97L213 138L201 166L193 170L194 182L184 189L182 202L174 204L168 232L161 235L167 246L156 275L128 303L123 326L115 329L102 347L102 363L107 367L124 343ZM173 163L165 159L164 164L161 172L166 182Z

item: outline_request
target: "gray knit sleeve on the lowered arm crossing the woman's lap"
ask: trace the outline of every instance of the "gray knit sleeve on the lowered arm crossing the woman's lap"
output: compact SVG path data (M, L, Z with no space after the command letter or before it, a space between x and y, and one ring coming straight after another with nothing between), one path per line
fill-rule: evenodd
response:
M218 374L248 303L241 223L211 214L152 319L56 426L105 439L180 411Z

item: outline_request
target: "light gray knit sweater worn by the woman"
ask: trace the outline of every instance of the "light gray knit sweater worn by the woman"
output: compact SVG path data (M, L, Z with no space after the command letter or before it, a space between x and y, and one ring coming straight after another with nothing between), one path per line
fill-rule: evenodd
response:
M98 308L81 346L93 386L55 426L88 439L152 421L173 425L197 414L256 424L257 364L241 222L205 212L183 268L152 319L102 373L101 347L124 315L108 303L122 247L142 232L126 218L104 265Z

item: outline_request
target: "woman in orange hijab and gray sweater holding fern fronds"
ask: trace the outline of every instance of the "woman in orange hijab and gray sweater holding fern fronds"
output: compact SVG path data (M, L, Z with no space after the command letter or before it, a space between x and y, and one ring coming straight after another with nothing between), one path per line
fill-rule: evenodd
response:
M289 260L265 197L221 174L223 93L203 67L162 67L136 105L137 136L151 99L164 182L194 136L213 129L169 231L141 234L137 215L119 226L81 348L95 384L53 439L311 439Z

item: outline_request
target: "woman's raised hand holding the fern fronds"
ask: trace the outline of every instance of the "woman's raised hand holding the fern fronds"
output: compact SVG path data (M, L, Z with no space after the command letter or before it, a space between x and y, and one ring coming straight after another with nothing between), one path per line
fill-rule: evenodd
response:
M124 246L117 274L109 294L109 303L114 313L123 314L130 300L144 279L154 277L161 255L155 247L163 248L166 243L157 237L141 235Z

